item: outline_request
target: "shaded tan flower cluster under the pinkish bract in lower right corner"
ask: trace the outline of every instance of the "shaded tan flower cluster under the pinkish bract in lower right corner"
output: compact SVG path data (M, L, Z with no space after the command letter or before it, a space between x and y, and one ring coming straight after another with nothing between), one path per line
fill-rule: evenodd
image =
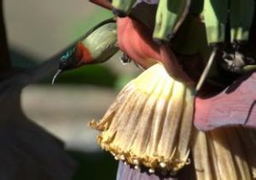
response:
M195 179L256 179L256 132L244 127L193 131ZM194 179L194 178L191 178Z

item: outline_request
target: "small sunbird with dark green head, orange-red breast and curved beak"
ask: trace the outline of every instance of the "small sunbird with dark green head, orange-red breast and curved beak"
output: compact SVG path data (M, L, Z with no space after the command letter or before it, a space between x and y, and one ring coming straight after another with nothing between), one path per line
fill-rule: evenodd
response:
M57 75L82 65L98 64L110 59L119 50L115 20L108 19L87 31L71 48L61 55ZM53 79L53 82L55 77Z

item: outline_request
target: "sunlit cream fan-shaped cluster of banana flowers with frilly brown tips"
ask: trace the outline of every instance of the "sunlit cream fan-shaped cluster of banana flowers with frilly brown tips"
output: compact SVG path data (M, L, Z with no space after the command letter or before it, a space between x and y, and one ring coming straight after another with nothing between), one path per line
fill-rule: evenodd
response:
M99 122L98 142L116 159L177 172L187 164L194 96L165 68L153 65L129 82Z

